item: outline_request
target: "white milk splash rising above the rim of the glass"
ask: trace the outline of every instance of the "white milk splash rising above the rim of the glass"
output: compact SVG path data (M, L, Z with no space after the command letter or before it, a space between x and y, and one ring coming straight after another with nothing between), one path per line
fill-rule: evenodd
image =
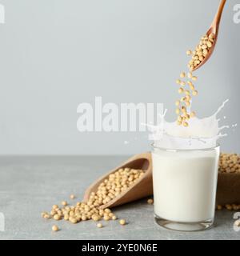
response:
M220 119L217 115L224 108L227 99L222 106L208 118L191 118L188 127L178 126L176 122L166 122L166 112L160 117L158 126L147 125L150 130L150 140L154 146L175 150L197 150L217 146L218 139L226 137L222 130L230 126L219 126Z

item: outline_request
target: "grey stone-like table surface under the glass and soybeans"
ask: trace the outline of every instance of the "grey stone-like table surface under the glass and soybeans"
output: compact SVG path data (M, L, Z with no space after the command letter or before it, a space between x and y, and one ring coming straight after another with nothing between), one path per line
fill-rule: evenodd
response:
M234 231L234 212L216 213L214 228L202 232L184 233L165 230L154 222L154 206L146 199L114 209L118 218L125 218L126 226L116 221L104 222L98 229L92 221L76 225L59 221L61 228L52 232L54 220L41 218L41 212L70 194L80 201L84 190L100 175L118 166L127 157L56 156L56 157L0 157L0 213L5 217L5 231L0 239L227 239L238 240Z

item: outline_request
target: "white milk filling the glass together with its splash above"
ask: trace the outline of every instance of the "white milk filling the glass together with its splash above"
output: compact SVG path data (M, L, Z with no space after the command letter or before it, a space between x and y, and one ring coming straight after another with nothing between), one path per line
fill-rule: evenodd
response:
M226 101L228 102L228 101ZM218 178L218 138L226 136L217 114L192 118L189 127L166 122L149 126L154 140L156 218L171 222L213 222Z

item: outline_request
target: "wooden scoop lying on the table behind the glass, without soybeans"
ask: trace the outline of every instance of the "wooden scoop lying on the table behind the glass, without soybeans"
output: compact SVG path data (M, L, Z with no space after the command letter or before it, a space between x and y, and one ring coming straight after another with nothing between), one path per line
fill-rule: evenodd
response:
M150 153L137 154L133 158L130 158L124 162L121 166L114 168L109 173L103 175L96 182L94 182L86 190L84 194L83 201L87 202L90 198L91 192L97 192L98 186L112 173L120 168L133 168L144 170L145 174L142 178L139 178L133 186L130 186L126 191L119 194L116 198L112 199L110 202L102 205L100 208L105 209L108 207L120 206L127 202L133 202L135 200L146 198L153 194L153 181L152 181L152 159Z

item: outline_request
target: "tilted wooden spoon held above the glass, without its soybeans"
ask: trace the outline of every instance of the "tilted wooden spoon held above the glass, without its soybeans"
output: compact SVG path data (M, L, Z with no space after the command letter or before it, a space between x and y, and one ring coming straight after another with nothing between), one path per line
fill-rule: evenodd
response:
M214 52L214 48L216 46L217 40L218 40L218 30L219 30L219 25L220 25L220 21L221 21L221 17L222 17L222 11L223 8L225 6L226 0L222 0L220 2L220 5L218 7L218 11L217 14L215 15L214 21L212 22L210 29L206 32L206 35L210 35L210 34L215 34L215 38L214 38L214 42L213 42L213 46L210 48L208 54L206 55L206 57L203 59L203 61L198 65L194 67L194 70L198 70L199 67L201 67L202 65L204 65L209 58L211 57L211 55ZM194 71L193 70L193 71Z

